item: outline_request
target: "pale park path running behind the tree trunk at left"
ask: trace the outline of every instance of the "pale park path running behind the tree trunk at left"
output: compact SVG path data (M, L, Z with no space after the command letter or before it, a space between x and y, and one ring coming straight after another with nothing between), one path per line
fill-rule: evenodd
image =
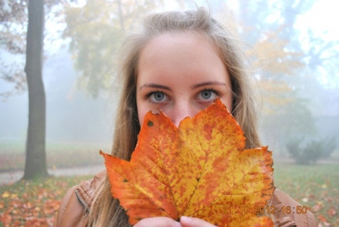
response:
M48 169L48 173L52 176L82 176L82 175L95 175L100 171L105 170L105 166L78 166L73 168L55 168ZM8 171L0 173L0 186L15 183L23 178L23 171Z

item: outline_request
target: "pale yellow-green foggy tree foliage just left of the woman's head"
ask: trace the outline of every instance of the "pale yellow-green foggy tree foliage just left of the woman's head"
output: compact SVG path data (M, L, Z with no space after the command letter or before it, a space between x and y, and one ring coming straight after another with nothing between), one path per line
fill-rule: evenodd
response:
M84 6L66 8L64 37L71 38L70 51L79 72L78 87L93 97L108 89L112 58L121 44L125 28L162 1L88 0Z

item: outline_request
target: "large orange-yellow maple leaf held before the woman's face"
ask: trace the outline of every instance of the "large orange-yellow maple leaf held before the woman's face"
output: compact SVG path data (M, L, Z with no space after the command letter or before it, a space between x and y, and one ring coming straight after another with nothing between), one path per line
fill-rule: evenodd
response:
M193 216L218 226L273 226L255 207L273 186L267 147L244 149L244 133L219 99L177 128L160 111L146 114L131 161L105 157L112 196L129 223Z

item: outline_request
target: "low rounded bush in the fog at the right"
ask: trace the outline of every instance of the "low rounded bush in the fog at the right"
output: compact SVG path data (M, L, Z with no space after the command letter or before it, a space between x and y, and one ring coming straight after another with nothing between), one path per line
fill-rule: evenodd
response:
M328 158L335 149L335 137L310 140L302 146L304 138L287 140L287 150L297 164L316 163L321 158Z

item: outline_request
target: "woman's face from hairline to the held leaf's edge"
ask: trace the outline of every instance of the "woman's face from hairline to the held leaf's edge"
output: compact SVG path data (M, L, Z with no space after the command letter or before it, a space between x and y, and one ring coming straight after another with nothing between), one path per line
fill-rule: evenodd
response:
M137 69L139 122L161 109L175 125L220 97L232 111L230 75L218 49L194 32L165 33L142 49Z

